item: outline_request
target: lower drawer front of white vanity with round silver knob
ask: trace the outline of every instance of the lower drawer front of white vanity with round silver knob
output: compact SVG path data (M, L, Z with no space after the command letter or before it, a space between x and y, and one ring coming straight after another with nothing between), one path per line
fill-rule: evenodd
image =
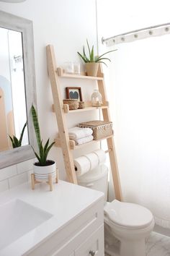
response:
M91 254L90 254L91 252ZM100 226L97 231L94 231L86 241L75 250L75 256L91 256L104 255L104 225Z

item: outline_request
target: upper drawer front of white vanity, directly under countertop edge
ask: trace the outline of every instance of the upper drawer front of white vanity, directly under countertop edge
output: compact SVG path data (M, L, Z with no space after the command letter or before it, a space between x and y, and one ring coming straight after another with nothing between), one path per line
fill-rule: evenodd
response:
M27 253L27 256L72 256L78 245L86 241L102 224L103 198L69 221L60 231L54 232L53 236Z

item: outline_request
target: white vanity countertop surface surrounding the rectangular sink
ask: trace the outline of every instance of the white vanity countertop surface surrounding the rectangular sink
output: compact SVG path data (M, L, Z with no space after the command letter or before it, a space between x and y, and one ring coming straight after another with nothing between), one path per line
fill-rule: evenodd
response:
M27 255L33 247L44 242L102 197L102 192L61 180L58 184L53 184L52 192L47 184L36 184L35 190L32 190L30 184L26 183L0 193L0 206L10 200L19 199L53 215L48 221L1 249L0 256Z

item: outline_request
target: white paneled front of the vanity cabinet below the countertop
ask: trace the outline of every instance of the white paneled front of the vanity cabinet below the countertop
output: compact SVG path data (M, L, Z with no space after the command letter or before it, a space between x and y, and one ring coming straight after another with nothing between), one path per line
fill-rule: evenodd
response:
M104 256L103 199L84 208L79 216L27 255Z

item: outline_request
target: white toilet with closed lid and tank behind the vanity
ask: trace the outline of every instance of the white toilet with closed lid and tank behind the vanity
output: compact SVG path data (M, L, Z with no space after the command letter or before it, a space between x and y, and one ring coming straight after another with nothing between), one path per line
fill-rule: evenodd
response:
M107 202L107 173L108 168L103 164L81 176L78 184L104 192L104 226L110 236L120 241L119 256L146 256L145 239L153 230L153 215L130 202Z

